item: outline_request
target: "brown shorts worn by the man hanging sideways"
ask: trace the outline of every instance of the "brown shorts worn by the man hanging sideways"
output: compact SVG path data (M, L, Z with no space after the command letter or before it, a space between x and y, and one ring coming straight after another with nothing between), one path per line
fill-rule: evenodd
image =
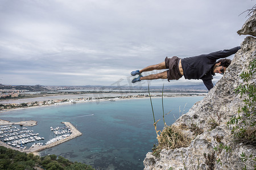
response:
M179 80L182 77L179 70L180 58L176 56L172 58L166 57L164 61L166 62L166 69L169 69L167 70L168 82L170 82L170 80Z

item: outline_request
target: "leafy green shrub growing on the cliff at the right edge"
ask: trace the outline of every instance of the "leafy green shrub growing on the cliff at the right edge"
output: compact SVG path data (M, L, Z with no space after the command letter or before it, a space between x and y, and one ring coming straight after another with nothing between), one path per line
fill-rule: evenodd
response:
M238 94L245 96L243 107L238 109L238 116L233 116L228 125L234 125L232 134L237 142L243 142L251 145L256 144L256 87L250 80L254 79L253 75L256 72L256 59L250 62L249 70L243 71L240 75L243 80L243 85L240 84L235 90Z

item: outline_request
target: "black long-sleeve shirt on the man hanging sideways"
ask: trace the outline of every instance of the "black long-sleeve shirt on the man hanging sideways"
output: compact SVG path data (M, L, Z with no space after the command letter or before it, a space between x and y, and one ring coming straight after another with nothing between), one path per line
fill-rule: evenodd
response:
M235 54L240 46L232 49L225 49L218 52L209 54L202 54L195 57L187 57L181 59L181 66L185 79L201 79L204 85L210 90L213 88L213 66L216 64L216 60L220 58L226 58Z

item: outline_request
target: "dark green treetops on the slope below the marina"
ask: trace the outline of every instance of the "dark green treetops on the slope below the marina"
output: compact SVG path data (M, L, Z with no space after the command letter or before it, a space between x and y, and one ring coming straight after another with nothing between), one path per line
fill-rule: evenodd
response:
M47 155L47 156L35 156L34 154L26 154L10 148L0 146L0 169L15 169L32 170L36 167L43 169L85 169L92 170L90 165L70 162L68 159L62 156Z

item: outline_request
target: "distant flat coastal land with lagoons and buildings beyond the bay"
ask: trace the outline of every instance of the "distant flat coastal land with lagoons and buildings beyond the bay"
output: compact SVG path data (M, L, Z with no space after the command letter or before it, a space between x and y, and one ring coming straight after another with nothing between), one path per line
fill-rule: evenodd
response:
M117 87L59 87L59 86L6 86L0 84L0 112L17 108L31 108L49 105L76 104L119 99L139 99L149 97L146 88ZM61 91L62 90L62 91ZM64 90L64 91L63 91ZM161 88L152 88L151 97L205 96L201 88L167 89L162 94Z

